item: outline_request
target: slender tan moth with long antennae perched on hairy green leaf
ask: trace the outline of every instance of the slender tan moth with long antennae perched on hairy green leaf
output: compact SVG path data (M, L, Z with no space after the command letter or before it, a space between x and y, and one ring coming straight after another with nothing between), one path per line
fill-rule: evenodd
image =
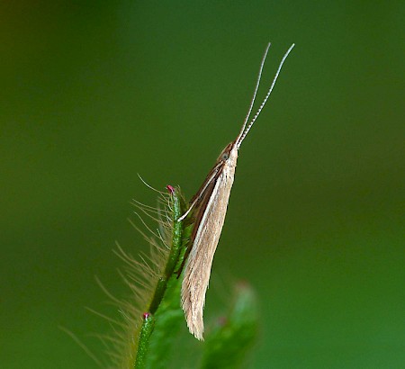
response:
M202 311L205 303L205 293L210 281L212 259L220 240L220 232L227 212L230 189L232 188L237 166L238 149L265 106L283 67L284 60L293 47L294 44L285 53L263 103L260 104L253 119L247 123L255 103L263 66L270 48L270 43L267 45L260 64L255 92L238 137L222 150L215 166L207 175L198 192L193 196L189 209L178 220L184 220L193 208L196 209L195 223L190 241L192 246L184 266L182 307L190 333L200 340L203 340L202 333L204 331Z

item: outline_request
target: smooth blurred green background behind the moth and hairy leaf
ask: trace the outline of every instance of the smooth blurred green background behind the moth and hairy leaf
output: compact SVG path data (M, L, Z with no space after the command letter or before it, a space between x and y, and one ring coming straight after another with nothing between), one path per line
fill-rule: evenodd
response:
M239 152L207 321L243 279L252 367L405 367L404 19L400 1L4 2L0 366L96 367L58 326L101 355L84 307L111 311L94 275L128 293L115 239L147 248L137 173L193 195L270 40L259 100L296 47Z

